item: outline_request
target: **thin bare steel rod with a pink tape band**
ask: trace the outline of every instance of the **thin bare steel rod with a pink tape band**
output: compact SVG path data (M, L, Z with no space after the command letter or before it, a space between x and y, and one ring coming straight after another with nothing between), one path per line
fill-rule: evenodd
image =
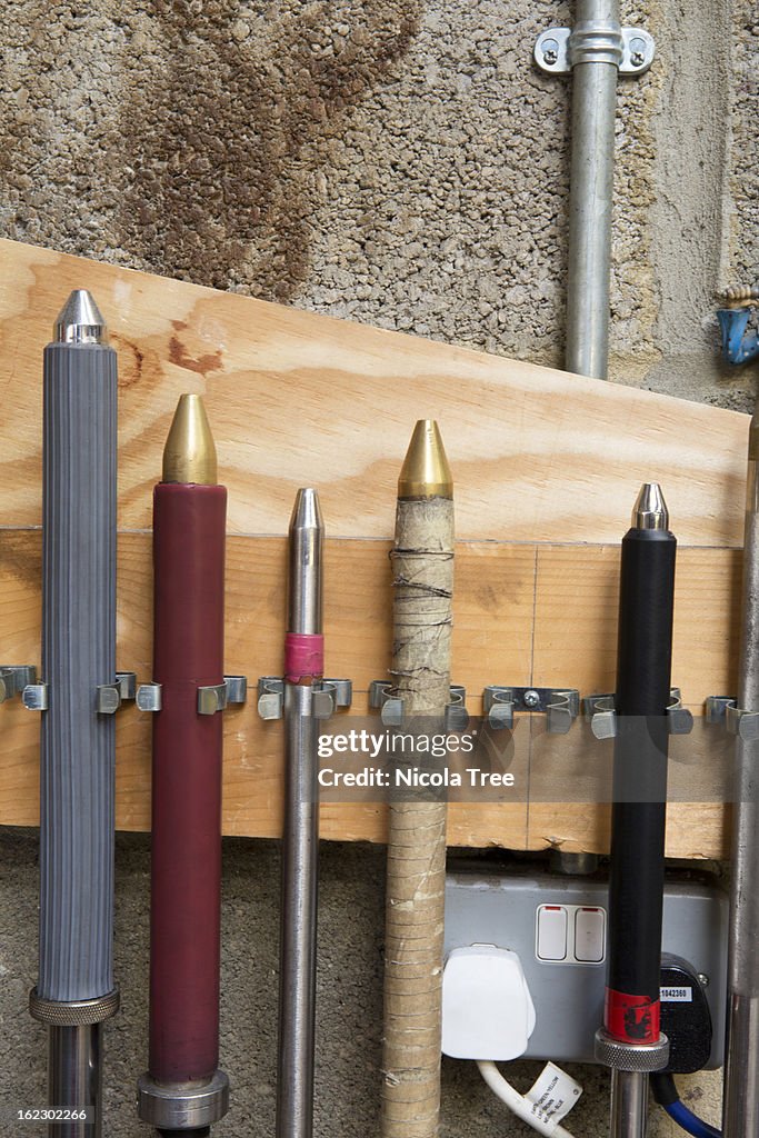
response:
M286 790L282 834L277 1138L311 1138L316 1021L317 727L323 675L322 544L313 489L298 490L289 542L284 648Z

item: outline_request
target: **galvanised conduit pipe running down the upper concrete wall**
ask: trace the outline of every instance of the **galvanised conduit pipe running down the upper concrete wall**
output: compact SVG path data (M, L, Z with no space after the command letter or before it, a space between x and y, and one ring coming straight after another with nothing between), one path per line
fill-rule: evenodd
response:
M569 40L572 134L569 192L567 371L605 379L614 174L618 0L577 0Z

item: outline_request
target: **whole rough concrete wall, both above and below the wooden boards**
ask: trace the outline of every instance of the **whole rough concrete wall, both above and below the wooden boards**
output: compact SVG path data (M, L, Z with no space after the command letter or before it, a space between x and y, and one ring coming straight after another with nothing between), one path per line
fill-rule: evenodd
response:
M715 294L756 280L759 7L622 3L658 60L620 83L612 379L749 409ZM570 83L531 64L544 0L16 0L0 13L0 233L336 316L560 364ZM508 424L504 426L508 429ZM1 643L1 629L0 629ZM121 1015L107 1133L147 1133L148 843L118 840ZM225 843L222 1052L233 1113L273 1125L278 861ZM317 1132L377 1130L382 852L325 847ZM39 1105L33 835L0 832L0 1103ZM534 1066L518 1066L526 1089ZM570 1129L601 1138L607 1075ZM717 1120L718 1079L683 1080ZM0 1120L0 1133L16 1133ZM26 1131L25 1131L26 1132ZM31 1131L30 1131L31 1132ZM444 1065L443 1138L526 1135ZM651 1133L675 1130L654 1115Z

